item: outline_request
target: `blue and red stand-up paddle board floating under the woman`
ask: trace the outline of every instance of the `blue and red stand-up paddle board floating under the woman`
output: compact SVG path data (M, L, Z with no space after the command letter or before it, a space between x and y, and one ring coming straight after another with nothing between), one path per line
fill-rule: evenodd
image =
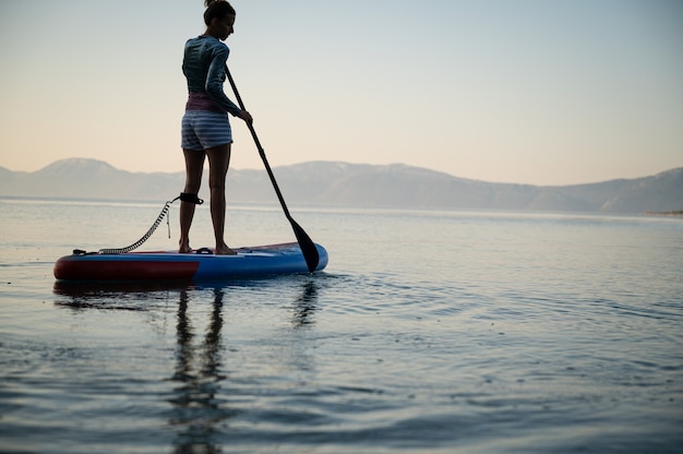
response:
M315 244L320 261L327 265L327 251ZM275 274L309 273L298 243L239 248L237 255L215 255L204 248L193 253L177 251L106 254L74 251L55 263L58 280L201 280Z

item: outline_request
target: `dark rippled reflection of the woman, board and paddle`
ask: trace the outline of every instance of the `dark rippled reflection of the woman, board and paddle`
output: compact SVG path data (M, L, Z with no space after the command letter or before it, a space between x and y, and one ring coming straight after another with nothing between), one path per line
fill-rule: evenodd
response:
M171 405L168 425L176 434L172 450L176 453L218 453L227 442L228 421L240 414L230 406L231 401L243 396L230 395L236 386L230 386L226 374L230 362L230 350L224 342L224 312L229 311L226 295L233 298L237 289L259 287L267 291L281 291L283 282L244 282L223 285L201 285L192 283L56 283L53 292L58 295L57 307L83 310L148 311L159 292L166 300L178 301L175 324L175 363L168 371L168 382L172 383ZM288 330L308 330L314 325L317 309L319 284L307 280L297 289L292 299L291 318ZM211 294L207 301L206 295ZM177 298L177 299L176 299ZM206 303L211 310L206 311ZM207 320L201 316L208 315ZM284 333L280 333L284 334ZM237 358L233 361L238 361ZM295 361L296 362L296 361ZM239 368L240 365L232 365ZM144 371L142 372L144 373ZM134 377L130 377L134 381ZM232 390L232 391L230 391Z

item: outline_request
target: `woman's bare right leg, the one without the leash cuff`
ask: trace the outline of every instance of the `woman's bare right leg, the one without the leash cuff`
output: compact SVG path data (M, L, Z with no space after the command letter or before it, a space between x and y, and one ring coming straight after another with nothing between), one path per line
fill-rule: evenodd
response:
M230 166L230 144L206 150L208 156L208 187L211 189L211 218L216 237L216 254L232 255L236 252L228 248L225 234L225 180Z

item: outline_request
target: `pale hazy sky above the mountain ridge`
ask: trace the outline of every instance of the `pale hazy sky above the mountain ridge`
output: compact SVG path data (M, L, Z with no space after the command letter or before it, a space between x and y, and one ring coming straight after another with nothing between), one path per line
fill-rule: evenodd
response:
M534 184L683 166L683 1L232 4L228 63L272 166L405 163ZM0 0L0 166L182 170L180 65L203 11ZM232 126L232 166L261 168Z

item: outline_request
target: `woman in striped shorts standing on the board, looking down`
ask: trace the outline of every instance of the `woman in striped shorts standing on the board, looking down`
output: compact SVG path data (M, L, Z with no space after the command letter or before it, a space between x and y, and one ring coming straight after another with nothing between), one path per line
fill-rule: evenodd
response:
M235 254L225 242L225 181L230 164L232 134L228 113L251 122L251 115L235 105L223 91L230 50L223 44L233 32L235 9L225 0L206 0L206 32L185 43L182 72L188 80L189 99L182 118L182 152L185 186L180 194L180 248L192 252L190 226L202 183L204 158L208 156L211 217L216 254Z

